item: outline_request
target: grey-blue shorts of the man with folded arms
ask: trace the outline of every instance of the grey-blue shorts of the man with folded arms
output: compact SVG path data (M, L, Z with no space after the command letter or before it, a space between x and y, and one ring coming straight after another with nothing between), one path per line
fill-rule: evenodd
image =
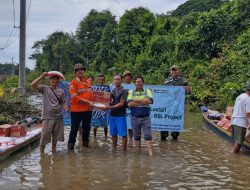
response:
M145 141L152 140L150 116L144 118L131 116L131 125L134 134L134 139L136 141L141 140L141 131L143 131Z

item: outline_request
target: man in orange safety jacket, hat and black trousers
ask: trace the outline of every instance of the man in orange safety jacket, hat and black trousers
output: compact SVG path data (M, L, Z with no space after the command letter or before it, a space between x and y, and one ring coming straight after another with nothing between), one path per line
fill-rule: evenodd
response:
M75 78L70 82L70 115L71 130L69 134L68 149L73 150L76 142L77 131L82 122L82 145L88 147L90 121L93 106L92 85L84 75L86 68L78 63L74 66Z

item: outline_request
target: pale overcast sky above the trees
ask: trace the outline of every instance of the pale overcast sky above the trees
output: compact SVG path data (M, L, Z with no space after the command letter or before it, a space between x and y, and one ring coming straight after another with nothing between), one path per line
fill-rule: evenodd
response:
M153 13L166 13L176 9L186 0L26 0L26 66L34 68L35 63L28 57L35 41L45 39L56 30L75 33L76 28L91 9L109 9L117 18L125 10L134 7L147 7ZM20 0L0 0L0 63L19 62ZM30 3L31 2L31 3ZM30 9L29 9L30 7ZM13 11L15 8L15 11ZM11 37L10 37L11 36ZM10 47L9 47L10 46Z

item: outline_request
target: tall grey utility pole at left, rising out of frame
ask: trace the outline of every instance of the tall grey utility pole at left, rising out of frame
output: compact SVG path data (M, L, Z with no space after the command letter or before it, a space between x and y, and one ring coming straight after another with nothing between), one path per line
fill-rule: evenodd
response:
M25 94L25 50L26 50L26 0L20 0L19 82L21 94Z

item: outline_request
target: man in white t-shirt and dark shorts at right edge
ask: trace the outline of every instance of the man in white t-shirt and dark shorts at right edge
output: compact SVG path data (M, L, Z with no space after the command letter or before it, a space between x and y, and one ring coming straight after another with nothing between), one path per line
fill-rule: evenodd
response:
M235 141L233 153L239 153L245 141L246 129L250 126L250 84L246 92L236 98L231 120L232 138Z

